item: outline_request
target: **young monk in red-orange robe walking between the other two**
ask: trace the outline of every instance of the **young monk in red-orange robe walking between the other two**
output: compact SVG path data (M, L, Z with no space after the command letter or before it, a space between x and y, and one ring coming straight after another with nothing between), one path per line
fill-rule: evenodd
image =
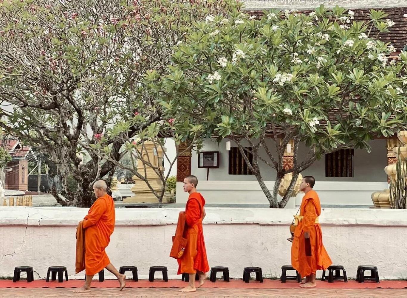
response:
M197 192L196 187L198 179L195 176L188 176L184 179L184 191L188 192L189 198L186 202L186 239L188 242L184 254L178 259L178 274L188 273L189 284L180 292L194 292L195 274L199 275L199 286L201 287L207 278L206 272L209 271L208 259L206 257L206 248L204 241L204 232L202 229L202 220L204 220L205 199Z

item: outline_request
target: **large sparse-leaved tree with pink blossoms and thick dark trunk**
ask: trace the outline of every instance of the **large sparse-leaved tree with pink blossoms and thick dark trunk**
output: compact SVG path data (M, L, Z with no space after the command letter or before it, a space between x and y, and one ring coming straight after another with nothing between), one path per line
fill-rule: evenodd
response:
M191 22L228 9L223 0L1 1L0 125L58 165L69 204L89 207L123 140L163 118L141 76L165 70ZM107 133L117 123L125 138ZM112 160L92 146L102 139Z

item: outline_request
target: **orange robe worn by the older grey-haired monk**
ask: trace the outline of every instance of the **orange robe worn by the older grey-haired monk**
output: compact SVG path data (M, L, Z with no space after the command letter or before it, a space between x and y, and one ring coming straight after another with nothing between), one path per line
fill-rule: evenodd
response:
M83 219L86 275L94 275L109 265L105 248L110 242L114 222L114 201L106 194L93 203Z

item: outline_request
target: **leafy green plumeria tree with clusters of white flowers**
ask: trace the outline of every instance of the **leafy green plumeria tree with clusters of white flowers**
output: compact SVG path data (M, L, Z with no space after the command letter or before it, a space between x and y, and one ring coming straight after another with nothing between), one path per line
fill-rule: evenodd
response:
M298 174L323 154L341 148L370 150L374 137L391 137L406 123L407 53L372 35L394 23L371 10L356 22L341 7L309 14L265 11L258 20L236 10L232 17L209 15L178 45L165 76L145 80L161 98L165 115L199 123L201 138L233 140L256 176L270 207L283 208ZM284 149L294 140L294 165L283 168ZM298 148L309 152L300 159ZM270 145L271 144L271 145ZM249 162L248 153L253 161ZM260 164L276 171L268 189ZM292 173L278 202L281 178Z

